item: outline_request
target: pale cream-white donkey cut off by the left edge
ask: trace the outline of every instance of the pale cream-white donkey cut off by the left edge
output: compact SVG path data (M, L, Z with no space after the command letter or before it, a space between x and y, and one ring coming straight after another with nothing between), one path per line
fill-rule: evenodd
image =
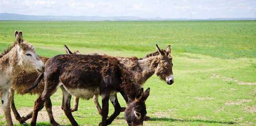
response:
M34 47L23 40L22 31L15 31L16 41L0 55L0 95L5 120L13 126L9 105L9 89L14 78L24 69L26 71L44 72L44 63L35 53Z

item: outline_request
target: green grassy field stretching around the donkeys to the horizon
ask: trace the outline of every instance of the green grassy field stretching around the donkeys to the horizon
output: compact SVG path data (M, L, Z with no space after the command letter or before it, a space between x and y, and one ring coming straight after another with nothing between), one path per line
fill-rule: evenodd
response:
M40 56L64 54L63 45L82 54L142 57L155 44L172 47L175 82L167 85L152 76L146 101L151 121L146 126L256 125L256 22L0 22L0 51L22 30ZM16 95L19 111L28 113L37 96ZM70 125L62 113L61 91L52 97L57 122ZM125 102L118 94L121 106ZM73 102L73 100L72 100ZM45 113L45 110L43 111ZM113 107L110 105L110 113ZM3 112L0 125L5 125ZM101 117L92 100L80 100L73 113L79 125L98 126ZM45 117L45 118L42 118ZM39 126L49 126L42 115ZM15 119L13 118L13 121ZM14 121L17 126L18 122ZM30 122L27 121L28 123ZM125 126L124 113L112 126Z

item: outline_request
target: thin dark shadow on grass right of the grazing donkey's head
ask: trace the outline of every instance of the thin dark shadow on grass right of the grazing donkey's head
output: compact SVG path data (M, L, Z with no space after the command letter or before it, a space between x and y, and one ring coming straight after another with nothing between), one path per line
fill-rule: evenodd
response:
M220 124L234 124L236 122L221 122L214 120L200 120L200 119L173 119L173 118L150 118L150 121L168 121L168 122L202 122L202 123L220 123Z

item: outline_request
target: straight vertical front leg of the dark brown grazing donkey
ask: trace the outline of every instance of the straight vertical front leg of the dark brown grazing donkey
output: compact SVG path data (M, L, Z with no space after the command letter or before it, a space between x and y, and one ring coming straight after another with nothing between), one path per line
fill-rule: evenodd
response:
M102 122L99 123L99 126L107 125L107 117L109 113L109 95L110 93L104 92L101 93L102 97Z

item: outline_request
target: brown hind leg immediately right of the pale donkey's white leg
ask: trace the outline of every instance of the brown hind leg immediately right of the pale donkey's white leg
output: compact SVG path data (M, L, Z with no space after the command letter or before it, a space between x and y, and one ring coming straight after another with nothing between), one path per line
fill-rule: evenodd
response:
M11 109L12 112L14 114L14 117L16 120L19 121L20 124L26 125L27 123L25 121L23 121L23 119L20 117L19 112L16 110L15 104L14 104L14 89L10 89L10 96L9 96L9 100L11 103Z

